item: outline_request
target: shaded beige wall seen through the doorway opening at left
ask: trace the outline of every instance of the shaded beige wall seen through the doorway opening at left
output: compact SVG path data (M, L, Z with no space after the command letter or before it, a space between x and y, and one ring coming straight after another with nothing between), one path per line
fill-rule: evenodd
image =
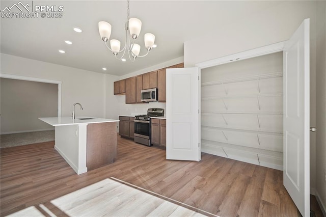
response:
M1 134L55 129L39 117L58 116L58 85L1 80Z

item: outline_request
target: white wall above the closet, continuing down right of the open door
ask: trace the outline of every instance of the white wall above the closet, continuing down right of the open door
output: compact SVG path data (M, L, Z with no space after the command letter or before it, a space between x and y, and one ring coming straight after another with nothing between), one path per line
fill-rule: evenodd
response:
M213 34L184 43L184 65L224 57L290 38L304 19L310 18L310 124L316 123L316 11L318 1L285 1L247 18L215 28ZM322 18L319 18L322 19ZM310 183L316 177L316 135L310 134ZM323 171L317 171L323 173Z

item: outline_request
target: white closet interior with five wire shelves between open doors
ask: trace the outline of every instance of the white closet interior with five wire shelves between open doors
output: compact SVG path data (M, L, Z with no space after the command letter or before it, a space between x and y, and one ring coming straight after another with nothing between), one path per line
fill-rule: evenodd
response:
M202 69L202 152L283 169L283 52Z

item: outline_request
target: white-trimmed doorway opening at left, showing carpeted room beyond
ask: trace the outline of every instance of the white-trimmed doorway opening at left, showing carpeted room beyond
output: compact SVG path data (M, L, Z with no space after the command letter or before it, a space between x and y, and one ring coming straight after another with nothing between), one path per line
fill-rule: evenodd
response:
M39 117L61 115L61 82L1 74L1 148L54 141Z

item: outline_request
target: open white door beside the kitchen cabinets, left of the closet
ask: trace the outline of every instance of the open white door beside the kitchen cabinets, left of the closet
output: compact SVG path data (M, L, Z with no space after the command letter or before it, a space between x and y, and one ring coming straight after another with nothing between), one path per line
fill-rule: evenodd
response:
M167 69L167 159L201 160L200 70Z

